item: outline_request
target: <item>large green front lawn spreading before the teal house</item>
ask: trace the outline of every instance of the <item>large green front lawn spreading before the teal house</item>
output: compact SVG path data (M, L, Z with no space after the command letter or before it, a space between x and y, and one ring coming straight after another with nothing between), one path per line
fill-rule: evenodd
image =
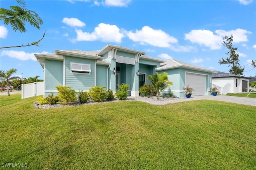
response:
M256 169L256 107L123 101L37 109L0 97L0 165L25 169Z

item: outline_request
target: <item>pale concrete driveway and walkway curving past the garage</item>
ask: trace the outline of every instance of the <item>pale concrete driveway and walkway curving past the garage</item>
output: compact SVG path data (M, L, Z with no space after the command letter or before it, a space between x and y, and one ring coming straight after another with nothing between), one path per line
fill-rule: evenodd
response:
M217 100L217 101L225 101L225 102L231 102L231 103L238 103L242 105L251 105L256 106L256 98L249 98L249 97L235 97L235 96L226 96L226 95L217 95L217 96L191 96L191 98L182 98L182 99L173 99L173 100L164 100L164 101L152 101L148 99L143 98L137 98L137 97L129 97L131 99L142 101L146 103L150 103L153 105L165 105L168 103L177 103L177 102L183 102L183 101L194 101L194 100Z

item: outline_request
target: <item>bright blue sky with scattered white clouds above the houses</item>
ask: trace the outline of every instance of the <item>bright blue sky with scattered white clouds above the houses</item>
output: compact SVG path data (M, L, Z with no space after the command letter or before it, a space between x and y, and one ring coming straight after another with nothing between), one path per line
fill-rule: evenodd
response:
M20 78L44 73L34 53L55 49L100 50L120 45L162 60L176 59L210 70L228 73L229 50L224 36L233 36L244 76L256 75L255 0L25 0L26 8L43 20L40 30L25 24L26 32L12 30L0 20L0 47L26 45L42 38L40 47L0 49L0 69L18 71ZM0 7L18 6L1 0Z

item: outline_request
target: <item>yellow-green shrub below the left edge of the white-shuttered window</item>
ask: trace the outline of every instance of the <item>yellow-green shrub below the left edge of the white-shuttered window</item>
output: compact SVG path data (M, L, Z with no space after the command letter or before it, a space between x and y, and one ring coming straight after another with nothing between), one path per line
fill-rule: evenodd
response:
M58 85L55 87L58 90L59 101L63 104L76 101L76 91L69 86Z

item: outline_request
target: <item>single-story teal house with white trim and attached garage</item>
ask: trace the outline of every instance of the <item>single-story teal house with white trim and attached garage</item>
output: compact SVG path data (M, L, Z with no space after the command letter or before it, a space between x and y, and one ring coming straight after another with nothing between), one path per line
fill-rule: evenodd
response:
M210 95L214 71L145 55L145 52L119 45L106 45L97 51L55 50L54 53L34 54L44 70L44 97L57 93L55 86L70 86L77 92L92 86L106 87L113 92L117 85L130 85L129 95L139 96L139 88L150 83L146 78L154 73L168 73L173 85L166 89L177 97L185 97L183 87L190 84L193 95Z

